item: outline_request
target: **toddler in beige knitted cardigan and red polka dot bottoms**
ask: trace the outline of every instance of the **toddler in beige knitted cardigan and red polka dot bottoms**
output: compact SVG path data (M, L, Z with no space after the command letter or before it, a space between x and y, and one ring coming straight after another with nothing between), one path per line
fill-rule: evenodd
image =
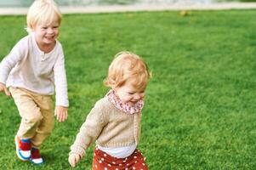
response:
M129 52L116 55L105 80L111 90L94 105L71 145L71 167L96 140L93 169L148 169L144 156L136 148L149 78L147 65L138 55Z

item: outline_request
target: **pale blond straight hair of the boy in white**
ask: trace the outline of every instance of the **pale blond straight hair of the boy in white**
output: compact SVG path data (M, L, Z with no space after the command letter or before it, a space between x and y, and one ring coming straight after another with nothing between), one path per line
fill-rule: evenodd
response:
M26 15L26 31L31 32L38 23L61 22L62 15L54 0L35 0Z

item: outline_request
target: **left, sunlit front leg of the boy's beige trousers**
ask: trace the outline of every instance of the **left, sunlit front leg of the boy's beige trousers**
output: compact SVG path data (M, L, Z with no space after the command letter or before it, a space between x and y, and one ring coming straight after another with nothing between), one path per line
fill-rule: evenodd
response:
M20 139L31 139L43 119L40 108L32 99L31 94L26 93L26 91L20 88L10 88L10 92L21 116L17 135Z

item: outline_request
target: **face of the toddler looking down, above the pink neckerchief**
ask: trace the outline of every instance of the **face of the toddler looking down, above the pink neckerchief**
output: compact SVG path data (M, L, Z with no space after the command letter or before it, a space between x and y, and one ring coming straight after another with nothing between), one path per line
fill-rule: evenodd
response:
M139 99L143 99L145 96L145 89L136 89L129 82L126 82L122 87L114 88L114 90L122 103L128 103L128 105L136 104Z

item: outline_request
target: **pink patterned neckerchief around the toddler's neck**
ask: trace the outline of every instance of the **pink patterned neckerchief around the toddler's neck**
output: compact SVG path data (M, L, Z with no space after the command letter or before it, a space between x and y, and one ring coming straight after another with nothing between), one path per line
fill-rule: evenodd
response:
M106 97L113 105L115 105L115 107L117 107L117 109L127 114L139 113L139 111L141 111L144 106L144 101L142 99L140 99L134 105L128 105L128 103L122 103L121 99L117 97L117 94L112 89L106 94Z

